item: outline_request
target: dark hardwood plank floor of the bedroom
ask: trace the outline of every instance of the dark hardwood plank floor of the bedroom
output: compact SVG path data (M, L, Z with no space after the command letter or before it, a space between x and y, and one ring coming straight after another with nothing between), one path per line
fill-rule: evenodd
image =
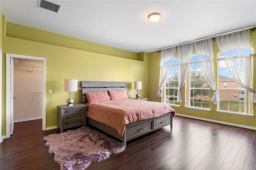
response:
M256 170L256 130L176 116L161 128L127 142L126 149L87 169ZM59 170L44 146L42 120L14 123L0 144L1 170Z

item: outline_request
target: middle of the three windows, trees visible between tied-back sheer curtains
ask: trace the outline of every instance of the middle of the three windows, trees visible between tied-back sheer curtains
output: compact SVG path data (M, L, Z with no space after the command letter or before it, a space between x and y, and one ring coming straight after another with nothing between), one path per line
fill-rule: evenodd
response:
M201 66L198 61L198 56L193 55L190 58L190 72L188 73L189 86L189 103L188 107L200 107L204 109L210 109L210 85L208 84Z

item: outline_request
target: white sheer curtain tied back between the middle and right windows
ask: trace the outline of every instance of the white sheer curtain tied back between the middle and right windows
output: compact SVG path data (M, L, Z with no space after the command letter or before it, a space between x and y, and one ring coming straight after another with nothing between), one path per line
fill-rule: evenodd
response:
M212 38L195 42L194 45L204 76L210 85L210 88L214 91L211 101L217 105L220 103L220 98L215 83Z

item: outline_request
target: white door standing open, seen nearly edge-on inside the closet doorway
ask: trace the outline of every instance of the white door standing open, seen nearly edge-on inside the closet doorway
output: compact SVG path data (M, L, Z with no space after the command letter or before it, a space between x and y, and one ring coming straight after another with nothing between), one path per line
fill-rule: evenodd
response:
M13 65L14 61L13 58L10 58L10 134L13 134L14 129L14 115L13 115L13 102L14 102L14 88L13 88Z

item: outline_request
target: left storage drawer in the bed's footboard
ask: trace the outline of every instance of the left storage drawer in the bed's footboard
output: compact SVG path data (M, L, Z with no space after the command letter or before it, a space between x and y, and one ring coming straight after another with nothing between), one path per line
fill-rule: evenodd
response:
M152 121L126 129L126 138L132 138L152 129Z

